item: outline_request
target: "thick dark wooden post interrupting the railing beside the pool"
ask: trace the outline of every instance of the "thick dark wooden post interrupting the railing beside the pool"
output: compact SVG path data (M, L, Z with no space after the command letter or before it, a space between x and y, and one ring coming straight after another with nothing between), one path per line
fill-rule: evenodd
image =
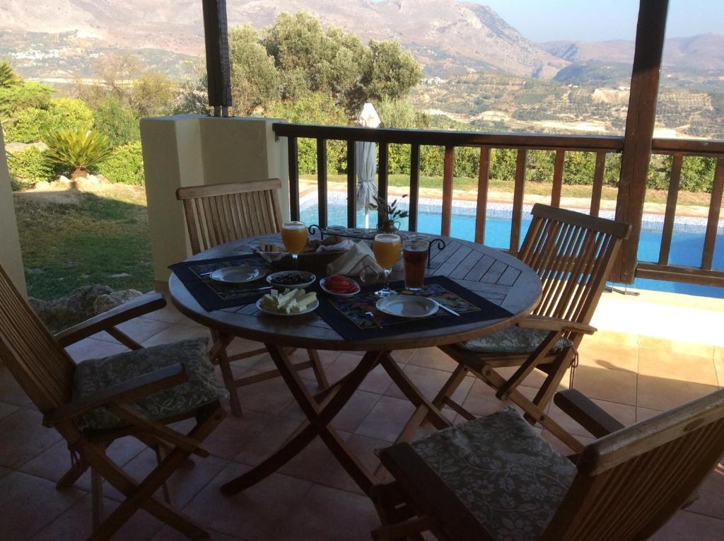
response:
M631 93L628 96L626 133L623 137L621 176L616 219L631 224L631 236L623 241L611 280L630 284L636 273L644 217L646 181L656 118L661 56L664 49L668 0L641 0L633 54Z

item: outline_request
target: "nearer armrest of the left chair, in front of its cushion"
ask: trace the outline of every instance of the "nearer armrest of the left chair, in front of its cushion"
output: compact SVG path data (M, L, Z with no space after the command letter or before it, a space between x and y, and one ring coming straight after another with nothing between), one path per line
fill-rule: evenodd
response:
M188 374L183 364L172 364L55 408L43 416L43 426L52 427L55 424L75 419L75 417L98 407L129 402L186 381L188 381Z

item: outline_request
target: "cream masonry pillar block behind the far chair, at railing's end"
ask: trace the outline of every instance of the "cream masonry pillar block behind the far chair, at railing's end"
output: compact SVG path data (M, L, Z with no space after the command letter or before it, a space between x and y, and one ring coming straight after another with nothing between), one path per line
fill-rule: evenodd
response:
M288 214L286 139L275 140L271 130L274 122L278 121L199 115L141 120L156 289L163 290L167 285L168 266L190 255L176 188L280 178L282 211L285 216Z

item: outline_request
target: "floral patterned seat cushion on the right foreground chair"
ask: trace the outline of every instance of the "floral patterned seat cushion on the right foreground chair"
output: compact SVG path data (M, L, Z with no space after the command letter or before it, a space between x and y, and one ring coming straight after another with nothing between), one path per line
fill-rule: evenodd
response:
M496 540L538 539L576 477L510 407L411 446Z

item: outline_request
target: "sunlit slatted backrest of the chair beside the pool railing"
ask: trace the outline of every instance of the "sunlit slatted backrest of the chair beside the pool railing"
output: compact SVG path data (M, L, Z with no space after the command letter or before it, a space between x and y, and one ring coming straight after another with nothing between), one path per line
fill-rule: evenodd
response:
M543 284L534 314L588 324L631 227L542 204L531 214L519 257Z

